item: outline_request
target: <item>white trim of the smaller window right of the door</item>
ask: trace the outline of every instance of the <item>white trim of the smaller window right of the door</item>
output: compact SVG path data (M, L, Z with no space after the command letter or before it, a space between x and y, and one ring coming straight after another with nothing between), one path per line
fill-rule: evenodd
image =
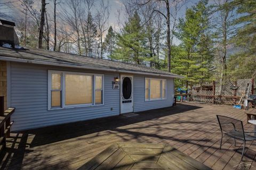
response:
M148 79L148 99L146 99L146 79ZM150 80L161 80L160 82L160 88L161 88L161 91L160 91L160 95L161 95L161 98L155 98L155 99L150 99ZM163 97L163 81L165 81L165 97ZM145 98L145 101L155 101L155 100L166 100L166 95L167 95L167 80L166 79L157 79L157 78L145 78L145 83L144 83L144 98Z

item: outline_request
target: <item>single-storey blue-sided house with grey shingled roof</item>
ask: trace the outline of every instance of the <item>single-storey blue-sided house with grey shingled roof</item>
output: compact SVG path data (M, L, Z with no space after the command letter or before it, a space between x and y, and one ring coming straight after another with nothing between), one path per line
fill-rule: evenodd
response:
M146 66L43 49L0 47L0 96L13 131L173 105L174 78Z

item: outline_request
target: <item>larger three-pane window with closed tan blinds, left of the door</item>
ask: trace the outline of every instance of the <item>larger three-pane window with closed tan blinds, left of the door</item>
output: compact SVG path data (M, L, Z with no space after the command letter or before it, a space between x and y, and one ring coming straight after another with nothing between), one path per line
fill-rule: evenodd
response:
M48 109L103 104L103 75L49 71Z

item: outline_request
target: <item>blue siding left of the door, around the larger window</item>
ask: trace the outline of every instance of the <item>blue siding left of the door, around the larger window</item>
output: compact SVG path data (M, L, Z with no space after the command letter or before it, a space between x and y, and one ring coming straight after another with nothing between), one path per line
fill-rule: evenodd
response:
M119 90L112 89L118 73L102 73L105 78L105 105L47 111L47 70L77 71L63 67L11 63L11 107L15 107L12 130L119 115ZM89 72L89 71L84 71ZM113 111L111 111L111 107Z

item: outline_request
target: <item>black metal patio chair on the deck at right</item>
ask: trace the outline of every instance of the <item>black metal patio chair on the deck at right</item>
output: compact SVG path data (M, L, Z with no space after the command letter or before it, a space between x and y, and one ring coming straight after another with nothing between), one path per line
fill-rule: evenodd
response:
M256 140L255 136L249 135L247 133L254 133L254 132L244 132L243 122L240 120L236 120L235 118L217 115L217 119L218 119L220 130L221 130L220 149L221 149L223 135L228 135L229 137L234 138L235 146L236 146L236 139L243 141L244 146L243 146L243 152L242 152L242 158L241 158L241 160L243 160L246 141Z

